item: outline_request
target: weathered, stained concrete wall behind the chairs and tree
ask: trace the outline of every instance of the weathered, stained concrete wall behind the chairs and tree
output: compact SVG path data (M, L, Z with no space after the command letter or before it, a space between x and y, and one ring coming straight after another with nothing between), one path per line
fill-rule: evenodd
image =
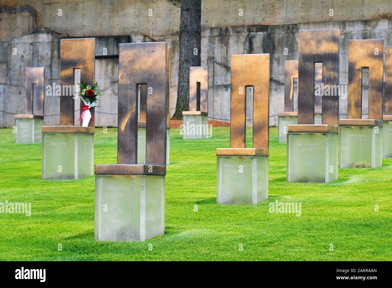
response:
M96 37L96 81L103 96L98 126L116 126L118 43L168 41L171 53L171 110L178 82L178 0L0 1L0 127L24 113L25 67L45 67L45 85L59 84L61 38ZM62 9L59 16L58 9ZM152 9L152 16L148 16ZM243 16L240 16L240 10ZM334 16L329 16L334 9ZM384 38L392 45L392 6L387 1L202 1L201 65L209 66L209 117L230 119L230 55L270 53L270 124L283 111L284 61L298 59L300 29L339 28L340 83L347 84L348 40ZM13 55L16 48L16 55ZM108 55L103 56L103 48ZM289 51L284 55L284 49ZM193 51L192 51L193 52ZM45 98L45 124L58 125L59 99ZM249 101L250 102L250 101ZM251 104L247 119L251 119ZM340 101L347 115L347 100Z

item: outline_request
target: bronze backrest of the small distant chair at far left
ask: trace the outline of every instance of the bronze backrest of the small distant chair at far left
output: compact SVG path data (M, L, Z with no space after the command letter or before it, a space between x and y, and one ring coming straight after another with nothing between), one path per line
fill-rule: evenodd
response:
M25 75L25 114L44 116L44 95L45 95L45 68L27 67ZM36 103L33 99L33 85L36 85ZM34 111L35 106L35 111Z

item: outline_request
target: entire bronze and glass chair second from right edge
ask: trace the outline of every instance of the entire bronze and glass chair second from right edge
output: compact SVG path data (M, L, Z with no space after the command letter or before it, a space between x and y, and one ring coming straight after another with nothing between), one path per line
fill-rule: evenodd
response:
M382 164L383 56L383 39L348 41L348 119L339 120L341 168L379 167ZM362 86L363 69L367 67L368 117L364 119Z

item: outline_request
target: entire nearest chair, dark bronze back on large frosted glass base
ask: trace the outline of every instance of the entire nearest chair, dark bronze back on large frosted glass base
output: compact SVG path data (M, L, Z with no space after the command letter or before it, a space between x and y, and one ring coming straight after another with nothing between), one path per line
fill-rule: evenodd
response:
M95 239L144 241L165 231L167 43L120 44L117 164L95 165ZM145 164L138 164L138 93L145 85ZM143 119L143 118L142 118Z

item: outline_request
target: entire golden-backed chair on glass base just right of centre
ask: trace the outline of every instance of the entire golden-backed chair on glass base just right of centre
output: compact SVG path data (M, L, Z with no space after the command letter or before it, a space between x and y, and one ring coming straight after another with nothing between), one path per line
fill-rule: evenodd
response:
M268 198L270 54L231 55L230 148L217 148L218 204ZM253 148L246 148L246 95L253 87Z

